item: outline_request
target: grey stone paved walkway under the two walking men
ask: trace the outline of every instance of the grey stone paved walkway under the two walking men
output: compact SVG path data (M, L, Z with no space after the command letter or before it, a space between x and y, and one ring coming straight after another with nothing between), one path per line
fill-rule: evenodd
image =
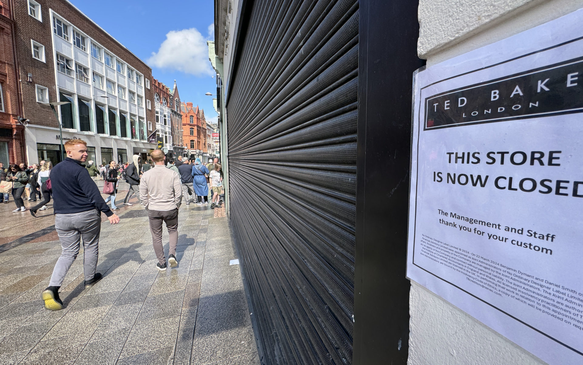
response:
M182 204L179 264L160 272L146 211L120 214L120 224L101 228L104 278L85 289L80 253L61 287L61 311L40 300L58 240L0 253L0 364L259 364L227 218ZM166 229L163 239L167 253Z

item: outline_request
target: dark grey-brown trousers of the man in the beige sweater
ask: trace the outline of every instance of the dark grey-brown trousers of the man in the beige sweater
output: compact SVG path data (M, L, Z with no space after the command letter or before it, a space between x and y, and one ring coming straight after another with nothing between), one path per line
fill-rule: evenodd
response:
M176 244L178 243L178 209L174 210L149 210L147 216L150 221L150 232L152 233L152 244L156 258L160 264L166 263L164 257L164 246L162 245L162 222L166 223L170 240L168 254L176 256Z

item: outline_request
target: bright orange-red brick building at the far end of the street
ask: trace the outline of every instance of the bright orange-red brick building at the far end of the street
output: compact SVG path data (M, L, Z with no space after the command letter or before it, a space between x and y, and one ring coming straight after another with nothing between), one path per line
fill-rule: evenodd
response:
M205 111L192 102L182 103L182 140L187 155L208 158Z

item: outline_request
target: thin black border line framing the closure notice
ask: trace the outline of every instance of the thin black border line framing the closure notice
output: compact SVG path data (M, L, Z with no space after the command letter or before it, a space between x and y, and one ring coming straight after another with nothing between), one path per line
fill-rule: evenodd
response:
M437 84L437 83L440 83L442 81L455 79L455 77L459 77L459 76L463 76L463 75L468 75L469 73L476 72L476 71L479 71L479 70L493 68L495 66L503 65L504 63L507 63L507 62L515 61L516 59L519 59L519 58L524 58L526 56L530 56L530 55L537 54L537 53L540 53L540 52L549 51L550 49L557 48L557 47L561 47L563 45L566 45L566 44L569 44L569 43L572 43L572 42L576 42L576 41L579 41L579 40L582 40L582 39L583 39L583 37L574 38L573 40L566 41L566 42L562 42L562 43L553 45L551 47L539 49L538 51L529 52L528 54L524 54L524 55L521 55L521 56L517 56L515 58L507 59L506 61L494 63L493 65L490 65L490 66L484 66L484 67L479 68L479 69L475 69L475 70L472 70L472 71L468 71L468 72L461 73L459 75L455 75L455 76L447 77L447 78L442 79L442 80L439 80L439 81L435 81L434 83L431 83L429 85L426 85L426 86L420 88L419 95L421 95L421 92L422 92L422 90L424 88L429 87L429 86L432 86L432 85ZM446 93L447 93L447 91L446 91ZM419 100L419 110L417 111L417 119L419 121L419 123L417 123L417 124L419 124L419 126L417 127L417 166L416 166L416 168L417 168L417 173L416 173L417 182L415 184L415 222L413 223L413 265L415 265L416 267L420 268L423 271L428 272L429 274L433 275L434 277L436 277L438 279L441 279L442 281L446 282L447 284L449 284L451 286L454 286L455 288L458 288L459 290L462 290L462 292L465 292L465 293L469 294L470 296L475 297L476 299L480 300L481 302L488 304L489 306L493 307L494 309L499 310L501 313L506 314L508 317L510 317L510 318L518 321L521 324L524 324L526 327L529 327L529 328L535 330L536 332L539 332L539 334L542 334L542 335L546 336L547 338L552 339L554 342L557 342L560 345L563 345L565 348L570 349L573 352L578 353L579 355L583 356L583 352L581 352L581 351L579 351L577 349L574 349L571 346L567 345L566 343L563 343L563 342L559 341L558 339L554 338L553 336L550 336L550 335L546 334L545 332L540 331L540 329L535 328L532 325L529 325L528 323L525 323L522 320L519 320L517 317L512 316L510 313L507 313L504 310L501 310L500 308L494 306L493 304L486 302L486 300L483 300L482 298L480 298L480 297L478 297L476 295L473 295L472 293L468 292L468 290L465 290L465 289L460 288L459 286L453 284L452 282L449 282L449 281L445 280L444 278L439 277L438 275L434 274L433 272L431 272L431 271L427 270L426 268L423 268L420 265L417 265L415 263L415 244L416 244L416 235L417 235L417 190L419 189L419 137L420 137L421 129L422 129L422 126L420 124L422 122L422 119L421 119L421 102L422 102L422 100L421 100L421 98L419 98L419 99L420 99ZM565 114L565 113L561 113L561 114ZM423 126L424 126L424 124L425 124L425 122L423 122ZM476 123L473 123L473 124L476 124ZM456 126L456 125L451 125L451 126ZM423 130L425 130L425 129L423 128Z

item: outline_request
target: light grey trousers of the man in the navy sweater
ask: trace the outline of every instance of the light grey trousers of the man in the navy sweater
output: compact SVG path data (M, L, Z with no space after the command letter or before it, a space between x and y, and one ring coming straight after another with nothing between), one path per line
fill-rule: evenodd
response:
M79 254L83 238L83 272L85 280L93 279L99 254L101 217L98 210L72 214L55 214L55 229L63 249L52 271L50 286L61 286L65 275Z

